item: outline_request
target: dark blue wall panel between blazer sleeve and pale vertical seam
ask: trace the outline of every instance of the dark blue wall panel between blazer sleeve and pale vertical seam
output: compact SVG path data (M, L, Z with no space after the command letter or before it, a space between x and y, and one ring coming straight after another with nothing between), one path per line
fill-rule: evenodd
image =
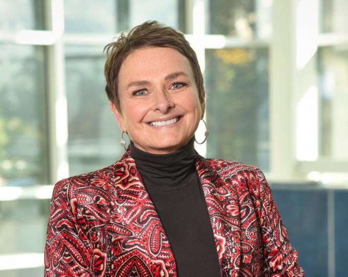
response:
M274 201L306 276L327 277L328 192L315 186L295 186L272 186Z

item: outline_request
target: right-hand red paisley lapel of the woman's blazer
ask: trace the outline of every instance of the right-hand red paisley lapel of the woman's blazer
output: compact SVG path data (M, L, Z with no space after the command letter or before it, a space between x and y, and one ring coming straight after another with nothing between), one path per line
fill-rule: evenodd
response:
M196 168L208 207L222 276L240 271L241 228L237 191L224 183L215 169L200 155Z

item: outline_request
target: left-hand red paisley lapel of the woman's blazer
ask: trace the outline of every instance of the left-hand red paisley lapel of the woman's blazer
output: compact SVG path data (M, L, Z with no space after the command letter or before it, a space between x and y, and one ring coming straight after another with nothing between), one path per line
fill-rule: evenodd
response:
M115 167L115 187L123 223L134 237L129 247L140 251L155 265L154 276L177 276L175 258L159 215L136 168L135 160L126 152ZM127 242L125 241L125 244Z

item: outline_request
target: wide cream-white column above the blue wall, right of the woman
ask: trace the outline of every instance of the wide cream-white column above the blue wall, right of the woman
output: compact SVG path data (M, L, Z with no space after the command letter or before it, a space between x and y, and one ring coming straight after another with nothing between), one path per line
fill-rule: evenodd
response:
M288 180L295 161L292 68L295 42L292 0L274 1L270 47L270 177Z

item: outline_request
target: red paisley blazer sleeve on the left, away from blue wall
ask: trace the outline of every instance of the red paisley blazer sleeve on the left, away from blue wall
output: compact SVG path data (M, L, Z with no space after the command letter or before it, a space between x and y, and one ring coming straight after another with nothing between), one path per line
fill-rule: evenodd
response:
M93 248L77 219L77 199L68 179L56 183L45 246L45 277L94 276Z

